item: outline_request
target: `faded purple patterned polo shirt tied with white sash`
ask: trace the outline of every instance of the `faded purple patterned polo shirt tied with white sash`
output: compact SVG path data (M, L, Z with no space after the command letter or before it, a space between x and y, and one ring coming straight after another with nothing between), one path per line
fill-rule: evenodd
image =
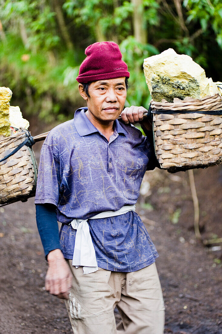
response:
M40 156L35 203L57 206L66 259L72 259L74 250L72 219L135 204L145 171L158 165L153 144L141 131L116 120L108 142L86 117L86 109L50 131ZM88 224L100 268L132 272L158 257L136 212L89 219Z

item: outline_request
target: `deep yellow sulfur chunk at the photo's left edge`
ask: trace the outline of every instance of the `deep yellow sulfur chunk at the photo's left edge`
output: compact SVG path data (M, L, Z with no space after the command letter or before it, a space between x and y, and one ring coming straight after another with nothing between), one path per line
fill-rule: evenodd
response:
M0 135L10 136L9 101L12 91L6 87L0 87Z

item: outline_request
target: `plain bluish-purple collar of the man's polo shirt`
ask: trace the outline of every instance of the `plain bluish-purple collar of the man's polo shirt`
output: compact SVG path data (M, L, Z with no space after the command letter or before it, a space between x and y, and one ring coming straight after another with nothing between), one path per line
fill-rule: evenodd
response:
M89 121L85 115L85 111L88 110L87 107L79 108L75 111L74 114L74 124L75 128L80 137L87 136L95 132L99 132L94 125ZM117 133L122 133L127 135L126 130L122 128L118 120L114 121L114 126Z

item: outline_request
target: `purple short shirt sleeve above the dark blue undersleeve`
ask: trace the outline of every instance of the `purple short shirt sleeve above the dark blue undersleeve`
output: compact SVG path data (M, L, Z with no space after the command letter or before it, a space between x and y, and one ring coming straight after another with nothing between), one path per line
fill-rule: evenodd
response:
M60 186L59 159L51 146L42 145L36 186L35 204L51 203L58 206Z

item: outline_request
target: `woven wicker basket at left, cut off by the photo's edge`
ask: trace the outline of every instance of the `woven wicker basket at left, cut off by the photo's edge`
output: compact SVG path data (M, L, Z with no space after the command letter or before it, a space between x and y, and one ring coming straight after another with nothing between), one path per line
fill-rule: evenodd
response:
M19 129L10 137L0 136L0 160L12 153L30 137L25 129ZM29 146L26 146L28 145ZM28 142L16 153L0 162L0 204L26 201L35 195L37 163L32 144Z

